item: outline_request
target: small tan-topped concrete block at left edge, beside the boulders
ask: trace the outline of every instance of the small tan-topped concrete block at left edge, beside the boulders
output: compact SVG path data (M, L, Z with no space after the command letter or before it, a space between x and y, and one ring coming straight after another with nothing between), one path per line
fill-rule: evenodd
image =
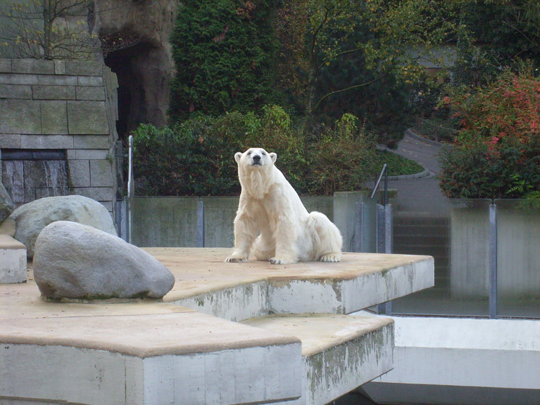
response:
M0 284L26 281L26 246L0 234Z

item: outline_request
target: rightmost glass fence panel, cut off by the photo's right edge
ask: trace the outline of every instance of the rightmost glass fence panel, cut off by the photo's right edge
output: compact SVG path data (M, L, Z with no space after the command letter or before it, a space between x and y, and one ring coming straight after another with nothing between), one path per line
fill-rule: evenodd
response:
M496 199L498 316L540 317L540 200Z

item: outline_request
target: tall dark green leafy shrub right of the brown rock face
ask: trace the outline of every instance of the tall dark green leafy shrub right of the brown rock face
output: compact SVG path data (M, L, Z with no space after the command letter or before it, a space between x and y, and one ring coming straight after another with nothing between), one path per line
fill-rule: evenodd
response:
M273 100L271 7L266 0L186 0L171 35L176 73L169 116L258 110Z

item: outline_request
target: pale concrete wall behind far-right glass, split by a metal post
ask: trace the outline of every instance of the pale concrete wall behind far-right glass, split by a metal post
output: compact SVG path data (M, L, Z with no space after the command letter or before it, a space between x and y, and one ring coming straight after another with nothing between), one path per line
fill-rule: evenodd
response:
M451 211L451 293L489 293L489 204L463 201ZM540 289L540 208L527 200L495 200L497 292L503 300L536 298Z

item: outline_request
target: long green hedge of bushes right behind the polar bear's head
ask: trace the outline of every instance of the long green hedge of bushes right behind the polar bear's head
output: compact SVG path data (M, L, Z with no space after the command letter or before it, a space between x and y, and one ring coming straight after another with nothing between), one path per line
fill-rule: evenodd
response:
M172 127L141 125L134 132L139 195L235 195L240 192L235 152L264 147L300 193L358 190L377 171L375 143L345 114L317 141L307 143L278 106L262 114L199 116ZM380 168L379 168L380 170Z

